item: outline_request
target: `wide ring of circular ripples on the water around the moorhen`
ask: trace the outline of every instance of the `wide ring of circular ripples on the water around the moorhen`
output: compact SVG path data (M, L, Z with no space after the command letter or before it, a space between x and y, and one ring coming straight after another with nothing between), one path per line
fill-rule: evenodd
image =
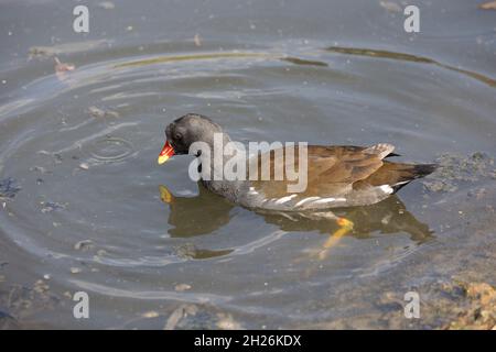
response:
M435 217L413 184L401 200L344 210L355 231L320 262L312 253L334 222L235 207L198 190L186 156L155 165L164 127L184 113L211 116L245 142L390 142L418 162L496 152L494 77L439 61L328 43L147 47L67 52L76 69L64 77L41 74L52 64L35 57L30 81L0 107L0 179L21 188L0 210L2 241L57 293L95 295L98 317L185 301L281 322L309 297L317 304L299 318L328 317L322 292L435 245ZM182 283L187 293L174 289Z

